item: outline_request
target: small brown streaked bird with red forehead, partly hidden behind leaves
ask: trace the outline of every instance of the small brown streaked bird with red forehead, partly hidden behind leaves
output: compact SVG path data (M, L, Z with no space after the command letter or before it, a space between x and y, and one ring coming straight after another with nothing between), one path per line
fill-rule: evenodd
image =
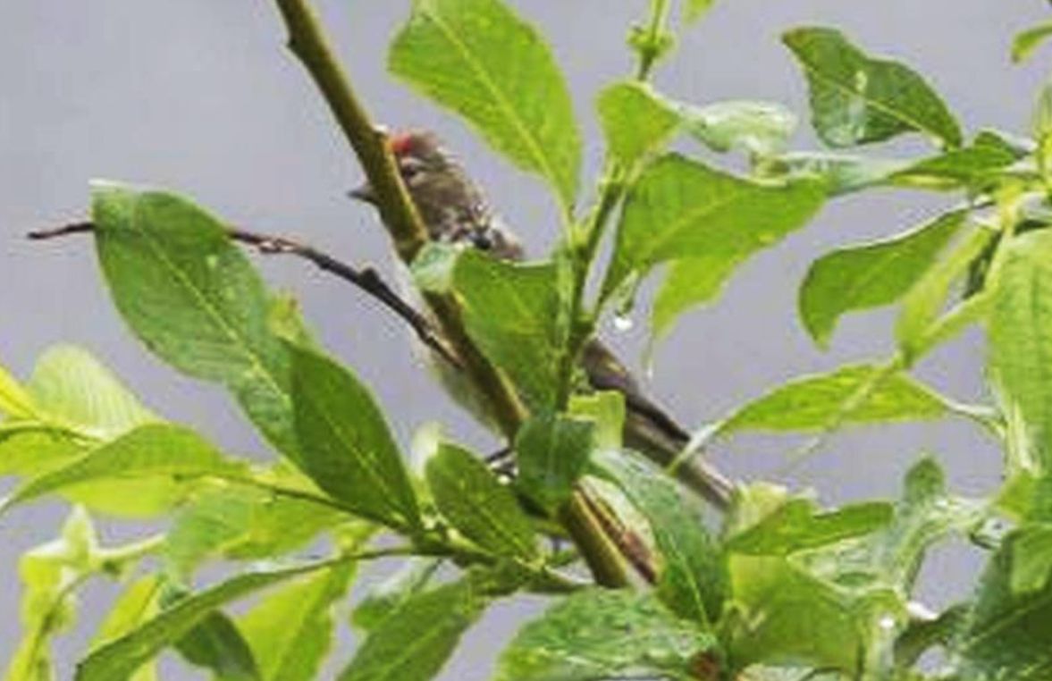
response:
M471 246L502 260L524 258L521 243L492 212L481 187L433 133L401 132L390 135L388 143L430 239ZM377 200L368 184L350 195L368 203L375 204ZM643 394L625 365L605 345L598 340L589 341L583 348L581 363L592 387L624 395L628 446L661 465L672 462L687 446L686 430ZM450 381L443 382L447 388L451 387ZM453 397L463 401L463 396ZM708 463L688 461L676 475L712 504L721 508L728 505L733 484Z

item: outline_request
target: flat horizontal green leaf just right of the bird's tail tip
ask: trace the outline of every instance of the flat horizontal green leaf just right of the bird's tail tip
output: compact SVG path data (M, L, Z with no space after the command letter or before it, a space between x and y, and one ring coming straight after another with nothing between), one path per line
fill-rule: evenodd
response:
M787 556L886 527L893 509L884 502L858 503L821 513L810 499L791 499L745 532L731 537L727 549L751 556Z

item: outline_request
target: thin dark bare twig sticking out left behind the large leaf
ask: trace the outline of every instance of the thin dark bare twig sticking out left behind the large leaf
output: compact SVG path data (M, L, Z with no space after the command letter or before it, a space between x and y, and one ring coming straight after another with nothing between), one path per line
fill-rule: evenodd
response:
M75 222L54 229L31 232L26 236L35 241L45 241L76 234L88 234L94 231L95 225L92 222ZM252 246L263 255L290 255L303 258L320 269L355 284L409 324L422 343L445 358L453 366L461 367L462 364L457 354L448 346L434 325L394 293L372 267L361 269L353 267L309 244L288 237L276 237L238 227L227 227L227 235L232 241Z

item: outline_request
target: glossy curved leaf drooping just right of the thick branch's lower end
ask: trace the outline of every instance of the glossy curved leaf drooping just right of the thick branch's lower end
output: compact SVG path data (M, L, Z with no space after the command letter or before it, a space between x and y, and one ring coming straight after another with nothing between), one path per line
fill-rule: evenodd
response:
M630 453L598 452L602 477L613 482L650 523L662 557L658 595L681 617L707 624L720 619L727 595L724 556L697 505L673 478Z

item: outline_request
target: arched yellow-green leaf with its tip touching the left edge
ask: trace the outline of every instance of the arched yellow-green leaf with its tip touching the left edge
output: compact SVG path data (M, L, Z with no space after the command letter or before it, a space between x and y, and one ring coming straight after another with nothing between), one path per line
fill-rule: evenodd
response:
M143 508L163 509L178 502L184 492L181 478L238 476L244 469L191 430L144 425L19 485L0 503L0 513L48 494L89 496L94 485L124 481L129 492L146 498L115 500L113 512L138 515Z

